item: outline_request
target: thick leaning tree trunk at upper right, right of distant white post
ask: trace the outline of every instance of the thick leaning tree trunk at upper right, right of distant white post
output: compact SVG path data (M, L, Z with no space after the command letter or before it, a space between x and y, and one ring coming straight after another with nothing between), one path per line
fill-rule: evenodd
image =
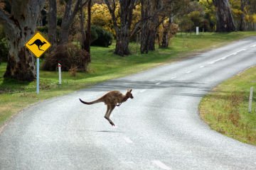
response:
M213 0L216 8L216 32L235 31L235 24L228 0Z

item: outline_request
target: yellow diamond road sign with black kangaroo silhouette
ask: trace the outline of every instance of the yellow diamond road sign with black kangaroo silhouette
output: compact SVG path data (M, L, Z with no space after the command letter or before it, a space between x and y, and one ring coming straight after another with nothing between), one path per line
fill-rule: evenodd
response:
M50 42L48 42L41 33L36 32L32 38L26 42L25 46L33 53L33 55L39 58L46 52L46 50L48 50Z

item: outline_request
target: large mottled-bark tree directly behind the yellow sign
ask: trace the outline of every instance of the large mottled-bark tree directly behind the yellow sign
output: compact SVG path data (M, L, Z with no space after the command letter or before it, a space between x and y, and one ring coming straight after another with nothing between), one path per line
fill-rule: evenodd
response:
M11 11L0 9L0 22L4 25L9 42L9 56L4 77L33 81L36 78L35 57L24 47L31 38L45 0L9 1Z

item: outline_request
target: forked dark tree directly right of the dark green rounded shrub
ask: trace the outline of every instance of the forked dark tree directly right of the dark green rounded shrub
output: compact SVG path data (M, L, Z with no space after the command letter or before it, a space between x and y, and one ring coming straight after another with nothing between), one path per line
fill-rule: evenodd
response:
M114 53L120 56L129 55L129 37L130 28L132 25L132 12L137 0L119 0L119 16L120 25L117 24L117 16L115 11L117 9L117 2L115 0L110 3L109 0L105 0L107 8L110 11L112 22L114 25L114 31L116 33L117 43Z

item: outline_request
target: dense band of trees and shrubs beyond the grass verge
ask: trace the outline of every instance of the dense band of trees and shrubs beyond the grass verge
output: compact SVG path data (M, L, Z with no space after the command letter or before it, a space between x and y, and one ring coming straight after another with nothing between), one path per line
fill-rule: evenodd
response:
M129 56L129 43L141 53L156 45L169 47L176 33L256 30L256 0L1 0L0 62L4 77L22 81L36 78L35 57L24 47L36 31L52 47L42 69L86 72L90 46L115 44L114 54Z

